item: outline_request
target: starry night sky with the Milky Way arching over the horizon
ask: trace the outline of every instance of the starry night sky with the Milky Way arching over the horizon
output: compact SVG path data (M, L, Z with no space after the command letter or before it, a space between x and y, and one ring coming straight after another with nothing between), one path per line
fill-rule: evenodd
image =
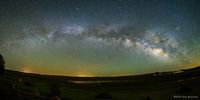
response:
M11 70L120 76L200 65L200 0L1 0Z

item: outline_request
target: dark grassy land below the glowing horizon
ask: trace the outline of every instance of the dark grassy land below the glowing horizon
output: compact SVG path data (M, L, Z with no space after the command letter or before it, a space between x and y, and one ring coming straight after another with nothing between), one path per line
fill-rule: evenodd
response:
M7 70L0 100L200 100L200 67L122 77L65 77Z

